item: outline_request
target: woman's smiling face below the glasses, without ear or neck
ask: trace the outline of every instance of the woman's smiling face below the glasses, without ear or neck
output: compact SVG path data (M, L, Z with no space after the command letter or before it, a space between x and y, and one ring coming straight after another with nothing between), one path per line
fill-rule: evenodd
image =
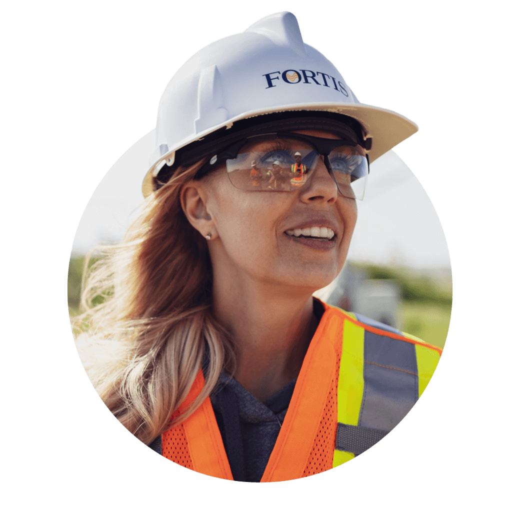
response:
M298 133L340 139L322 131ZM322 157L314 174L295 191L240 190L231 184L225 164L204 178L202 186L214 230L215 240L209 246L215 277L228 277L229 283L249 279L314 292L339 274L357 207L355 199L339 193ZM332 229L334 237L291 236L294 230L313 227Z

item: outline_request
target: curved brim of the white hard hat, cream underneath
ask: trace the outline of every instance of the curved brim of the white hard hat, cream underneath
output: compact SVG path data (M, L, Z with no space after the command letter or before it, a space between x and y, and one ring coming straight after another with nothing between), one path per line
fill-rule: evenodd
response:
M189 145L191 142L202 139L203 137L212 134L220 128L227 127L230 129L232 128L233 123L237 121L254 118L258 115L289 111L334 112L337 114L348 115L351 118L357 120L363 127L363 130L366 132L365 137L372 138L372 148L369 152L371 163L419 131L419 126L417 123L414 123L412 120L408 119L399 112L395 112L394 110L389 110L387 108L376 107L374 105L364 105L363 103L340 104L317 102L257 109L251 112L244 112L235 118L229 119L228 121L208 128L206 131L200 134L193 134L190 136L190 138L186 139L185 142L181 142L178 146L176 146L175 150L168 150L166 153L162 154L161 157L153 161L153 164L151 164L142 183L142 194L146 198L153 192L153 174L157 174L157 172L160 170L160 167L162 167L166 161L168 161L169 164L172 164L175 157L175 152L185 147L186 145ZM254 124L253 121L251 123Z

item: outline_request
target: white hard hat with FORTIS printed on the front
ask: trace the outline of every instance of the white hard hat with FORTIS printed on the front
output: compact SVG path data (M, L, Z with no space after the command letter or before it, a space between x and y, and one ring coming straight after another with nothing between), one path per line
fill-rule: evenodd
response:
M253 118L253 126L264 114L304 116L300 111L358 121L370 162L419 130L398 112L361 103L334 64L303 41L292 12L281 11L206 45L168 82L144 196L154 190L153 177L164 165L178 164L181 149L233 134L233 124L237 128L245 119Z

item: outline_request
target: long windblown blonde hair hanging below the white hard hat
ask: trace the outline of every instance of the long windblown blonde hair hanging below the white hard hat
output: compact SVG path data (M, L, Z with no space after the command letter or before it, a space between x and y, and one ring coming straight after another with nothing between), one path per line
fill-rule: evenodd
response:
M212 314L212 266L206 240L188 222L180 189L206 159L180 167L150 195L119 245L85 259L76 345L97 393L144 444L184 421L236 368L236 346ZM93 254L102 256L88 268ZM94 298L104 301L94 305ZM204 387L185 412L202 367Z

